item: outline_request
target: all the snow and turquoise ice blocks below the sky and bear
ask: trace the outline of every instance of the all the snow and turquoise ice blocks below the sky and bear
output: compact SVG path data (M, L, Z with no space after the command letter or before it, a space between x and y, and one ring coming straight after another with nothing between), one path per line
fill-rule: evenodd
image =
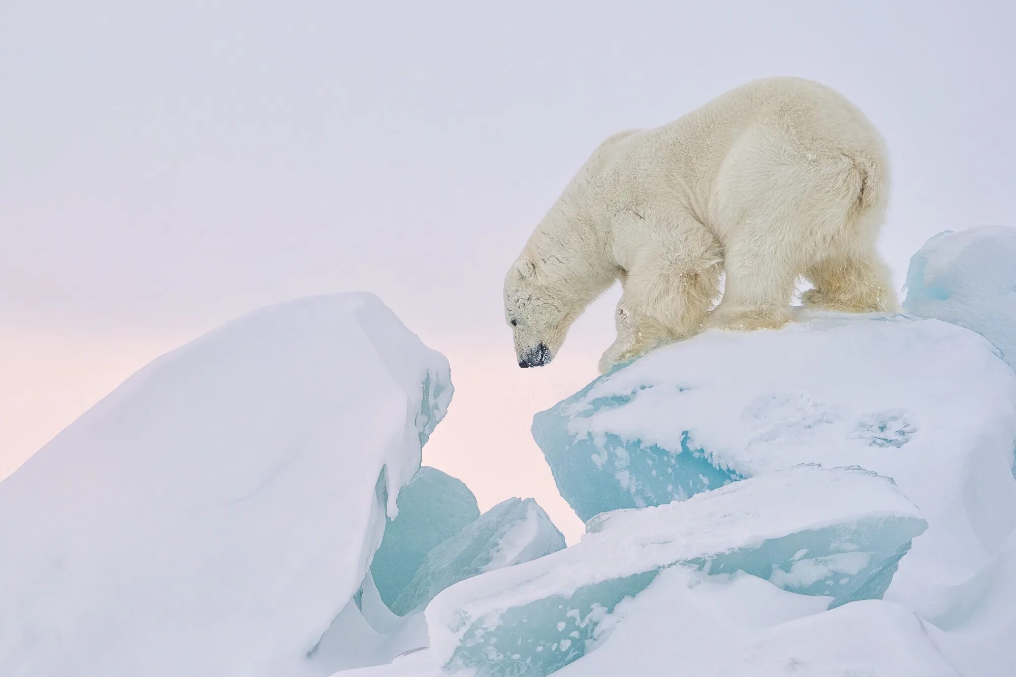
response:
M420 467L448 364L376 297L241 317L0 483L0 672L1007 677L1014 233L914 256L941 319L706 331L536 415L568 548Z

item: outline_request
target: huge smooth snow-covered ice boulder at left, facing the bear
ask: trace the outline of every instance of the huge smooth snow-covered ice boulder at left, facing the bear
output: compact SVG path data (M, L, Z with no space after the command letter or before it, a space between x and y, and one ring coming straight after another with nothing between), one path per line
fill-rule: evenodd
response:
M328 674L448 363L372 295L245 315L158 358L0 483L0 666Z

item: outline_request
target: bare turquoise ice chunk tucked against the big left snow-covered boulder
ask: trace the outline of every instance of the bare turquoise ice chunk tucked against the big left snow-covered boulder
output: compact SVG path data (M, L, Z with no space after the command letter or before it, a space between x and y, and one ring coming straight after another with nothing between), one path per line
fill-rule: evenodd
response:
M427 553L480 516L477 497L455 478L424 467L398 495L398 516L388 521L371 574L391 608Z

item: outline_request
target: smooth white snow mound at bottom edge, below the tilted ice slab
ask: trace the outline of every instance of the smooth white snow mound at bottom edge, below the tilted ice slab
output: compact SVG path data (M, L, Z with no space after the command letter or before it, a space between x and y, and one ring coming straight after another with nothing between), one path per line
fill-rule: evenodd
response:
M903 607L820 611L814 601L754 576L671 568L619 604L595 649L555 677L959 677L936 645L942 633Z

